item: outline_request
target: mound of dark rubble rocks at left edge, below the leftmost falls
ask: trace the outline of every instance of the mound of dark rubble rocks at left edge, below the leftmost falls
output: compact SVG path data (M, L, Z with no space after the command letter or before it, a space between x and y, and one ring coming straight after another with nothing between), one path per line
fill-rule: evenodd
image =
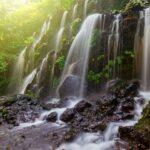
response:
M18 126L21 122L34 121L41 110L38 99L27 95L0 97L0 120L3 124Z

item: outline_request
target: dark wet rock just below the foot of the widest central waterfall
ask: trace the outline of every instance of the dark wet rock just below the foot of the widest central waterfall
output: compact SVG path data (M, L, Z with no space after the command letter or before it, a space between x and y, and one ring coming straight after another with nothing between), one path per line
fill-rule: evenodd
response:
M92 106L91 103L89 103L89 102L83 100L83 101L77 103L77 104L75 105L74 109L75 109L75 111L77 111L77 112L83 112L84 109L90 108L91 106Z

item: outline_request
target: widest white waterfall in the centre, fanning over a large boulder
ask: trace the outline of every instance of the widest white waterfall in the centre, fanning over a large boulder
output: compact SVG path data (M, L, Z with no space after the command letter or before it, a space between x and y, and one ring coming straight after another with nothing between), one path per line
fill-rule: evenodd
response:
M88 69L91 38L93 30L96 27L96 23L101 16L102 15L100 14L94 14L86 18L79 33L71 45L61 76L59 87L69 74L74 74L81 78L80 88L76 89L79 93L78 96L83 96L86 72Z

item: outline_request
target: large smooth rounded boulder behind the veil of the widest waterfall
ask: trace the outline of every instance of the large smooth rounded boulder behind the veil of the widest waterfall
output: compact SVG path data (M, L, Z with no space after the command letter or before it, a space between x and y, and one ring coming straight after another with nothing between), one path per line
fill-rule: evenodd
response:
M61 98L69 96L78 96L81 79L78 76L70 75L66 77L62 85L59 87L59 95Z

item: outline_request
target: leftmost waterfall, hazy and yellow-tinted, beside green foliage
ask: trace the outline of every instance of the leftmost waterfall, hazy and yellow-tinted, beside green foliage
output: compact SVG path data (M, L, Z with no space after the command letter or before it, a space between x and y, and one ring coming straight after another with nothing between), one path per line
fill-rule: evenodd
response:
M25 47L20 55L18 56L17 62L15 64L14 67L14 71L12 74L12 81L9 84L9 91L10 93L16 93L18 92L18 87L20 86L22 79L23 79L23 75L24 75L24 66L25 66L25 54L26 54L26 49L27 47Z

